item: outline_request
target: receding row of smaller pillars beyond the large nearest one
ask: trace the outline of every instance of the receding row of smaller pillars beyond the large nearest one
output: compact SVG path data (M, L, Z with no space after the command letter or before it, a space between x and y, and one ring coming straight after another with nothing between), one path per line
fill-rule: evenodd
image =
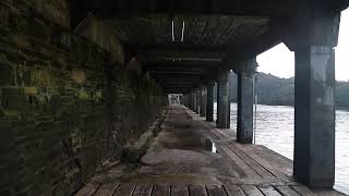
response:
M250 66L255 66L255 59L250 61ZM230 127L230 102L228 94L229 72L221 72L217 79L217 121L218 128ZM238 87L238 142L251 144L253 138L253 72L241 72ZM201 117L206 117L207 122L214 121L214 86L209 81L189 94L186 106Z

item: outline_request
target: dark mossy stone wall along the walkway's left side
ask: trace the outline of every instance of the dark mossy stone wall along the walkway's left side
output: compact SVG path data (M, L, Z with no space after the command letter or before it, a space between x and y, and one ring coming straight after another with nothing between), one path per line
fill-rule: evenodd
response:
M71 195L166 102L45 2L0 1L0 195Z

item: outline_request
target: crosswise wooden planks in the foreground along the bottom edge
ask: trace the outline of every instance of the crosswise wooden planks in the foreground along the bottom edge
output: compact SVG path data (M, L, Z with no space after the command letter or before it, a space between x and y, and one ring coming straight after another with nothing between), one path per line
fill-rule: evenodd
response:
M312 196L305 186L87 184L76 196Z

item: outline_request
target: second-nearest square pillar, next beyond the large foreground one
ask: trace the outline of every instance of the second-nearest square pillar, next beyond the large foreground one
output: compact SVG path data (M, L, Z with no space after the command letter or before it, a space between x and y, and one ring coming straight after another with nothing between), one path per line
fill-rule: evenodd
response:
M237 140L252 144L253 140L253 74L238 74L238 128Z

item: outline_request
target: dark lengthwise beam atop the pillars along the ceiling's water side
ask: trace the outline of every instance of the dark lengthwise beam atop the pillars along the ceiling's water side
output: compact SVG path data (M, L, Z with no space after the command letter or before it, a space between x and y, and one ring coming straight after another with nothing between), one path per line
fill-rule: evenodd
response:
M349 0L309 0L308 4L312 5L308 8L310 9L309 12L311 12L312 9L316 9L321 10L322 12L335 13L348 8ZM316 7L314 4L316 4ZM270 19L269 29L263 35L256 37L255 39L251 39L249 42L228 47L226 51L227 57L222 68L232 69L236 71L236 69L241 69L237 66L237 64L239 64L241 61L255 58L256 56L282 41L288 45L287 41L289 37L292 37L293 32L299 28L299 26L293 24L294 14L297 13L296 10L299 9L299 3L297 3L297 1L293 1L292 3L288 2L288 5L289 10L294 11L293 15L289 12L284 13L282 15L275 15Z

